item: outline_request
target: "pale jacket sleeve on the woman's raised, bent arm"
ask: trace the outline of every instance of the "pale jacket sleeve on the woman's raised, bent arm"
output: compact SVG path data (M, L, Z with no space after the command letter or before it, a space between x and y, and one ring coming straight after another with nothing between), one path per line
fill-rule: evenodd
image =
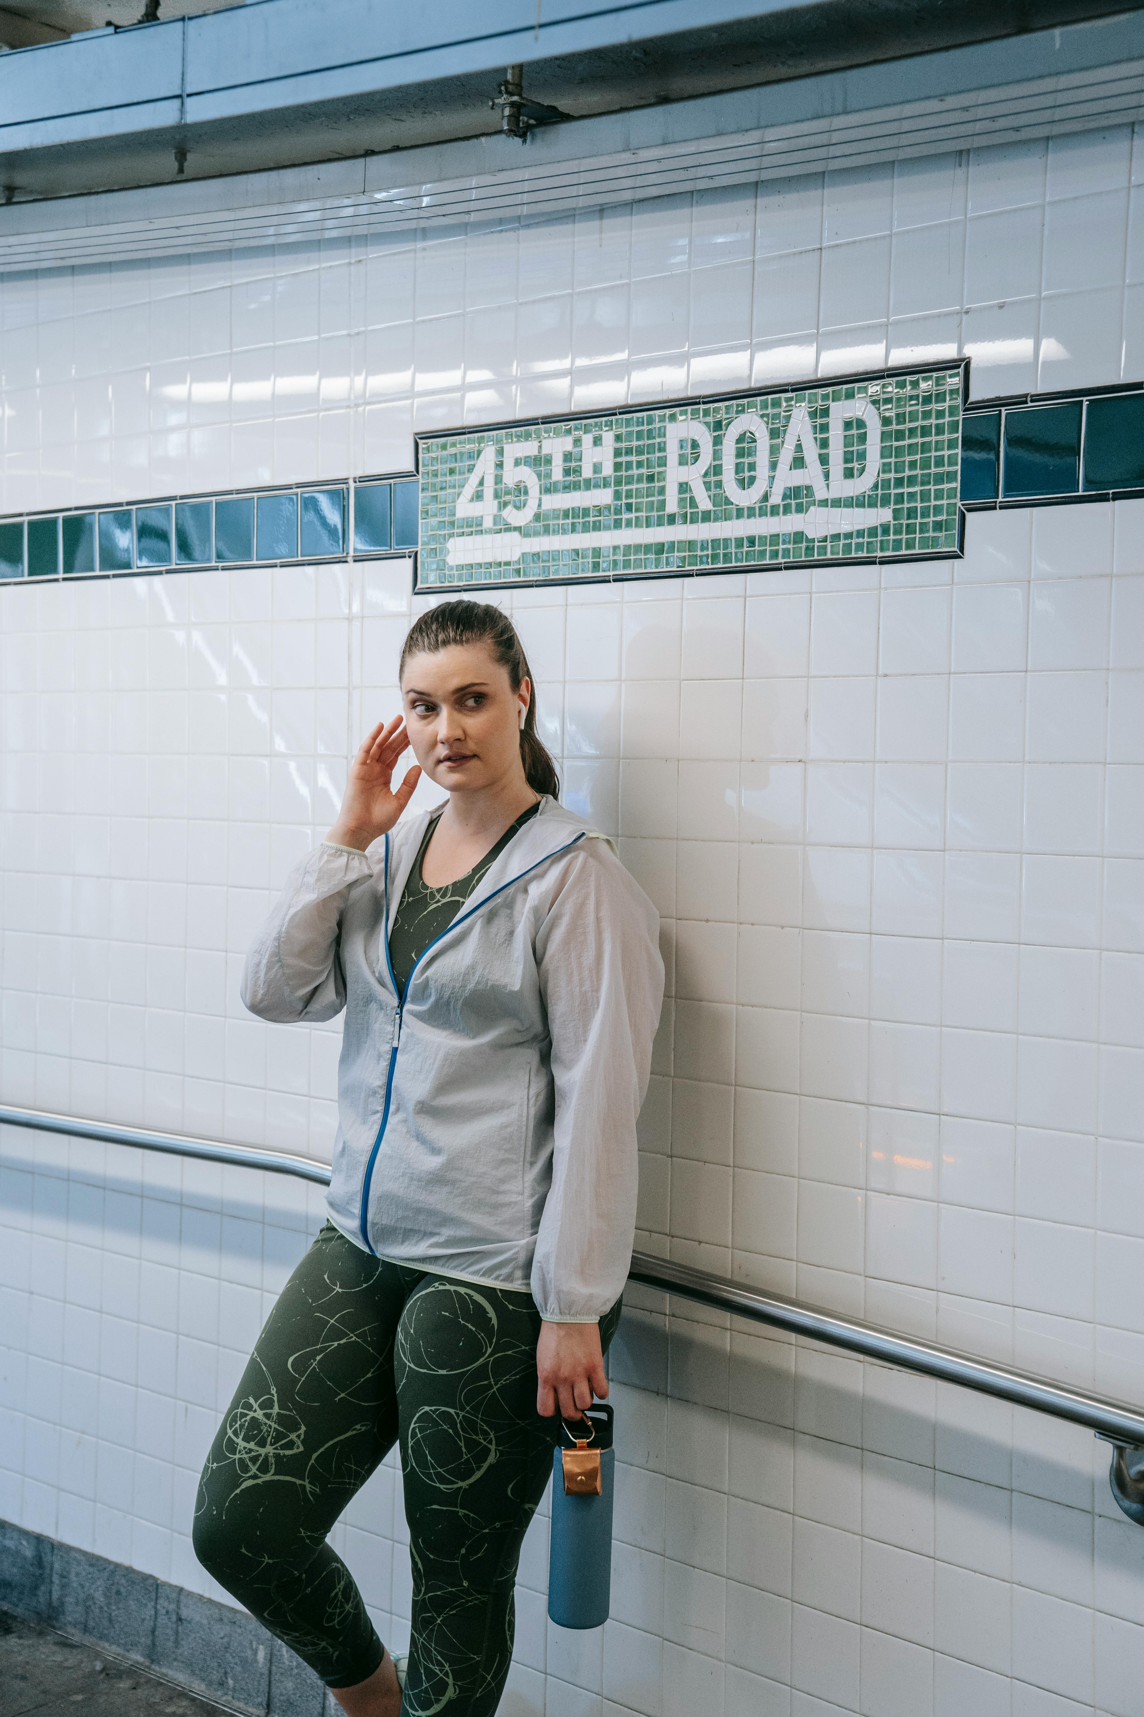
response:
M341 912L369 876L365 853L329 841L295 865L247 953L240 994L250 1013L280 1025L341 1013Z

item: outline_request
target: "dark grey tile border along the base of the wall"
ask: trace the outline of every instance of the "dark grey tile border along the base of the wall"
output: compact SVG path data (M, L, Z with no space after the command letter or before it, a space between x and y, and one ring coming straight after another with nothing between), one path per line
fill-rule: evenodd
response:
M242 1717L341 1717L245 1611L0 1520L0 1607L103 1645Z

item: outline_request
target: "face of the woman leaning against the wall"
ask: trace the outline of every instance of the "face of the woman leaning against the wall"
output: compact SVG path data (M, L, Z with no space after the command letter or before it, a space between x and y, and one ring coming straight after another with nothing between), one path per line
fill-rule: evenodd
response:
M451 644L410 656L401 676L405 726L425 774L472 793L523 774L520 719L532 687L515 692L487 644Z

